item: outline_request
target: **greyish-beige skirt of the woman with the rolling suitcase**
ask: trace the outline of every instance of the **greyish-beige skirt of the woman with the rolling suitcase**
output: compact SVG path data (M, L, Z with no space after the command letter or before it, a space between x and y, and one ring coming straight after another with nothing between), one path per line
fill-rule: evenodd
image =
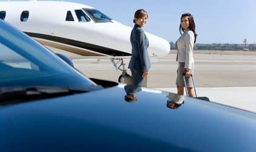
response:
M178 63L178 69L177 69L177 79L176 79L176 85L179 87L184 87L183 83L183 75L185 73L185 63L179 62ZM192 69L190 69L191 74L194 76L194 63L192 65ZM193 87L193 82L191 77L185 77L187 87Z

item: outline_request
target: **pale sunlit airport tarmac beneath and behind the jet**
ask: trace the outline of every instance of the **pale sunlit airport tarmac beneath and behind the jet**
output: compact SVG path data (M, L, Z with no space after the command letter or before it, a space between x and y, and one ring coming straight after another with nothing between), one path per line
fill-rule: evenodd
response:
M87 77L118 81L117 71L110 59L89 59L81 55L61 52L72 59L75 68ZM147 87L176 93L176 51L152 63ZM256 113L256 51L194 51L195 84L199 97L211 102L237 107ZM129 59L125 59L128 64ZM128 70L128 72L130 72Z

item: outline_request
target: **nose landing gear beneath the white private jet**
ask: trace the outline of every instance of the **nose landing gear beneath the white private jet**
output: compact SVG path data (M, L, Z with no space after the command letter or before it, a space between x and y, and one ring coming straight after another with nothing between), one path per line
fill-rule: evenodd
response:
M116 63L115 60L118 60L118 62ZM115 66L115 68L117 70L122 71L122 74L118 77L119 83L122 82L123 78L132 77L132 76L130 76L130 74L127 74L127 69L125 67L126 63L124 63L123 58L111 59L111 62L113 63L113 65ZM118 64L120 64L120 65L117 66Z

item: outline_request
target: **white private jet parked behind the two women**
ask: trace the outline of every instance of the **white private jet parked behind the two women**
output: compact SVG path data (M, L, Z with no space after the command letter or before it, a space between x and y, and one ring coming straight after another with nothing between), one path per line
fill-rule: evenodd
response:
M0 2L0 18L45 46L75 54L109 58L126 77L125 58L131 55L131 27L84 4L64 1ZM150 57L170 51L167 40L147 33Z

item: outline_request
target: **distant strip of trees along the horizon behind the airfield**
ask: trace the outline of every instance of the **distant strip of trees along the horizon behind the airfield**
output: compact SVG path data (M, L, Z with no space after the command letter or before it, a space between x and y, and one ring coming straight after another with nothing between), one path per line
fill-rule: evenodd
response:
M256 44L248 44L249 51L256 51ZM170 42L170 49L177 49L175 43ZM229 51L241 51L243 50L243 44L229 44L229 43L212 43L212 44L201 44L195 43L194 49L197 50L229 50Z

